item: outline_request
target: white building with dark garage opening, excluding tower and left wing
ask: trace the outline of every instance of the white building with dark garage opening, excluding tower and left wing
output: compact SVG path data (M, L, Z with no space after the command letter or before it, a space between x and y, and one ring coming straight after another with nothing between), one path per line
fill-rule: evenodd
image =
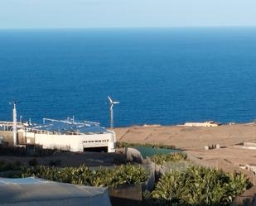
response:
M44 122L24 130L27 144L63 151L115 151L115 133L99 127L99 123L46 118Z

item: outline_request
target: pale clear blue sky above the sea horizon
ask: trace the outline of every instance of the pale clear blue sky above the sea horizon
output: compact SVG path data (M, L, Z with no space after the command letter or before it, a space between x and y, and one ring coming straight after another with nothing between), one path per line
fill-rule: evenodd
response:
M0 0L0 28L256 26L256 0Z

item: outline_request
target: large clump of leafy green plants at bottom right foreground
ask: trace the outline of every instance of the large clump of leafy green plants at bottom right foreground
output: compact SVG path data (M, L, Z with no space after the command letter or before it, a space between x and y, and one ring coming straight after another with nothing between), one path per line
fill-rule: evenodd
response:
M225 173L205 167L163 175L151 193L152 205L229 205L249 189L249 179L241 173ZM148 194L147 194L148 198Z

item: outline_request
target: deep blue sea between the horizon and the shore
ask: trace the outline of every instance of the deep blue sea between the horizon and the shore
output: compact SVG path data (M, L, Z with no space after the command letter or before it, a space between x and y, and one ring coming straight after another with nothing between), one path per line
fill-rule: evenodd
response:
M0 120L256 119L256 27L0 31Z

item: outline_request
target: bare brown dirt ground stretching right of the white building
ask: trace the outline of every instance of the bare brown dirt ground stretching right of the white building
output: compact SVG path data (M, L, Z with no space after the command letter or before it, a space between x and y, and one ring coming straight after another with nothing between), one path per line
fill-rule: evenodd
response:
M200 165L225 171L241 170L239 165L256 164L256 150L237 146L256 143L256 124L234 124L219 127L144 126L115 128L117 141L176 146ZM206 145L220 144L220 150L205 151ZM254 181L252 172L241 170Z

